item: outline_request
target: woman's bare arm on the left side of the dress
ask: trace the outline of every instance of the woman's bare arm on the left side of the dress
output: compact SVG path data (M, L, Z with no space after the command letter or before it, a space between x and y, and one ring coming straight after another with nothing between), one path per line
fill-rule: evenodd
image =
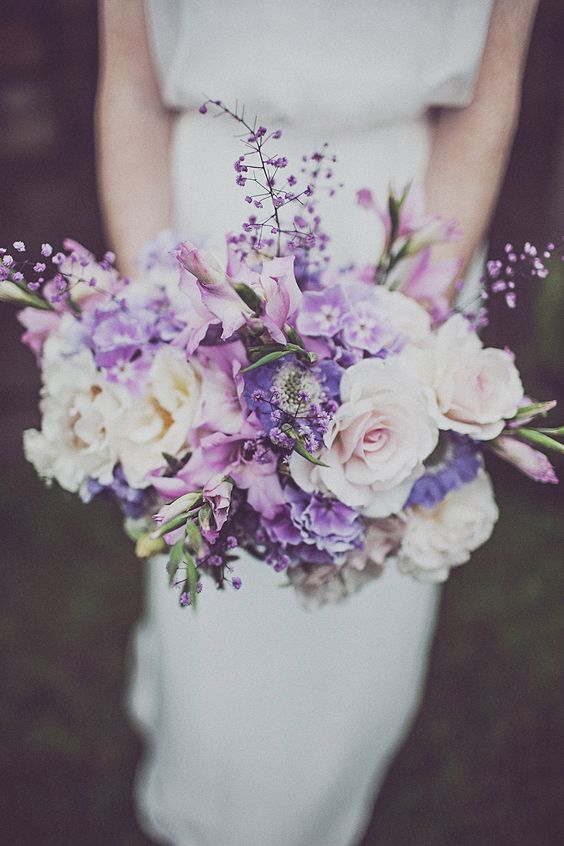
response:
M171 225L170 131L152 70L143 0L101 0L96 98L98 180L123 273Z

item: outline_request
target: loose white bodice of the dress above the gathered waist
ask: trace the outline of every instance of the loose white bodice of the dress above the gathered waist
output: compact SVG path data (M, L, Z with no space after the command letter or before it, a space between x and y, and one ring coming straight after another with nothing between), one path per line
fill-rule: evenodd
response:
M146 0L163 99L366 129L465 106L493 0Z

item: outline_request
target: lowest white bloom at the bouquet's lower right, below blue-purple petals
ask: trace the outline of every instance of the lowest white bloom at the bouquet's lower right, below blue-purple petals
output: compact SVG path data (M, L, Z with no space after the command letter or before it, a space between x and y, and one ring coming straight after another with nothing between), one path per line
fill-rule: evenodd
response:
M451 567L464 564L488 540L497 518L490 477L480 470L435 508L406 509L399 569L422 581L445 581Z

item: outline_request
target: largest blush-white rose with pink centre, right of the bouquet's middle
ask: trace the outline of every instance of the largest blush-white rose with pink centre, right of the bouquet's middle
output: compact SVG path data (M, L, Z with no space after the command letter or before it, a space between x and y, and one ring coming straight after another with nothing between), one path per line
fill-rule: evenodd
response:
M402 356L365 359L345 371L342 405L314 466L295 453L294 480L304 490L329 491L368 517L399 511L438 439L420 383Z

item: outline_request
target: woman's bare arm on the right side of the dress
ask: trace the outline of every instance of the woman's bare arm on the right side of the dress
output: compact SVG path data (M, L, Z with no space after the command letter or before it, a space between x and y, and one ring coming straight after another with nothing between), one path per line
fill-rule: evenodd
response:
M461 274L488 229L505 173L537 4L496 0L472 103L437 116L427 205L463 229L462 239L436 248L437 258L460 258Z

